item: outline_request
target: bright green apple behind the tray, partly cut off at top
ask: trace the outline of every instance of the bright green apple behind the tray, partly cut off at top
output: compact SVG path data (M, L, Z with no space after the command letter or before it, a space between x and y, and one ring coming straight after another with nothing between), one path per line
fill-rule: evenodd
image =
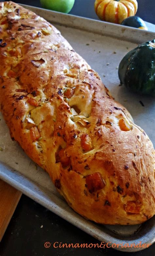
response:
M45 9L68 13L73 8L75 0L40 0Z

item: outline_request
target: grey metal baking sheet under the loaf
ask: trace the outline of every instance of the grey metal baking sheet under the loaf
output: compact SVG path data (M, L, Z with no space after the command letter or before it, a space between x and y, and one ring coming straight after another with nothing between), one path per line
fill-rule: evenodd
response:
M154 98L138 96L124 86L118 86L117 73L123 56L138 43L154 39L155 33L30 6L24 7L39 14L60 30L75 51L99 73L115 99L129 110L135 123L146 131L154 143ZM139 251L142 248L122 248L121 244L155 242L155 216L142 225L108 226L85 220L72 210L55 189L49 175L11 140L1 114L0 147L3 150L0 151L0 178L73 225L100 241L120 244L115 249L125 252Z

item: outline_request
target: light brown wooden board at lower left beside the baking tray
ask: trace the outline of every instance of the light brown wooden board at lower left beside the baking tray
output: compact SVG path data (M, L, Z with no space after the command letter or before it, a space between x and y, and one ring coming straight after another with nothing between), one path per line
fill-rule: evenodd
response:
M22 192L0 180L0 241L21 198Z

